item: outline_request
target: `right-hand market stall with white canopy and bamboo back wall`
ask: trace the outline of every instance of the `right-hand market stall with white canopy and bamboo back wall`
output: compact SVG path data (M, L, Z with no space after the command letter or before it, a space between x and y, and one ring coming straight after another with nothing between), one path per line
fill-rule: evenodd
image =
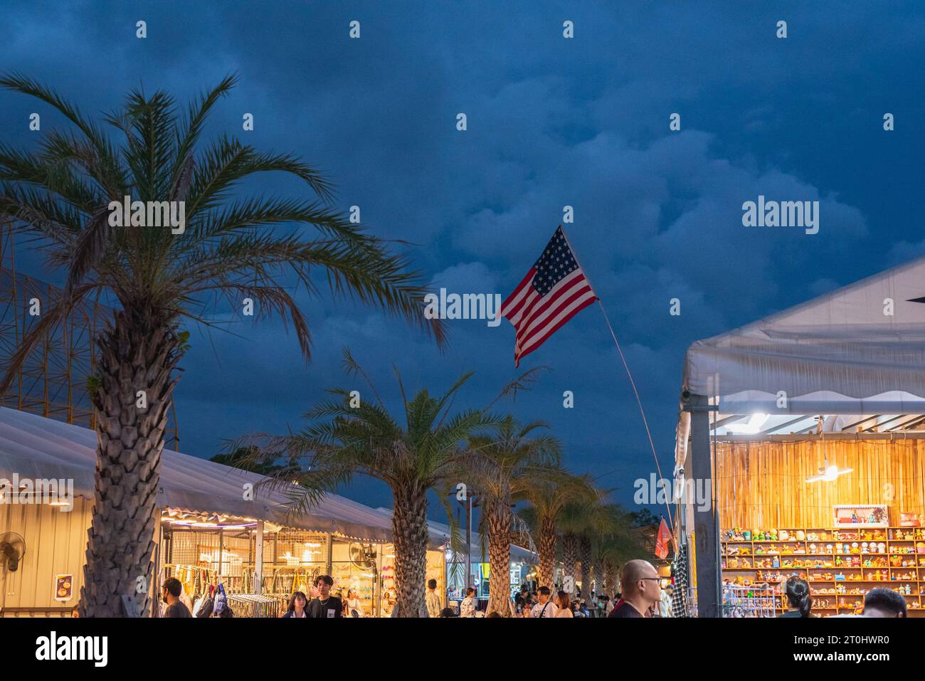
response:
M870 588L925 609L925 258L687 351L678 539L701 615L804 576L819 614ZM706 484L705 484L706 483ZM725 606L725 607L724 607Z

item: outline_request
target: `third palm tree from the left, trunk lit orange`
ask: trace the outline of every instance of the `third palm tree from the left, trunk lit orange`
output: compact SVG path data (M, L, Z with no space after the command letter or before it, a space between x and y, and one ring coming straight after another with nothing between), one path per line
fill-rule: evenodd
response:
M559 440L540 433L547 425L534 421L521 425L507 416L490 435L470 440L471 456L464 464L462 477L479 490L482 500L482 534L488 545L487 612L512 615L511 561L513 499L534 482L554 475L561 459ZM485 541L482 545L485 545Z

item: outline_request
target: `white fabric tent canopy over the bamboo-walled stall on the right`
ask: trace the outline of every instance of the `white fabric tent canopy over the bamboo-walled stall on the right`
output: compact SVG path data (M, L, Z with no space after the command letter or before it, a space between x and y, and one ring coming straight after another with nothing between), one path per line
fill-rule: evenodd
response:
M925 411L925 258L695 342L684 388L725 414Z

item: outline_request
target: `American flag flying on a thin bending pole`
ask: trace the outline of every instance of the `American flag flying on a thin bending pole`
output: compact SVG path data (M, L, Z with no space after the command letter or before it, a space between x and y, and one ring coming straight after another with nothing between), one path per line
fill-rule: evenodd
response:
M501 316L516 331L514 364L520 366L524 355L596 300L560 225L524 280L501 303Z

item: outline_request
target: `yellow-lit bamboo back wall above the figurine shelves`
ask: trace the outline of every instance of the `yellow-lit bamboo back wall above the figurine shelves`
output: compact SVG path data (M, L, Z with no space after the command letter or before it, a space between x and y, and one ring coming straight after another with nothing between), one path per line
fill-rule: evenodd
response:
M806 482L826 457L854 472ZM717 442L716 464L721 529L828 528L845 503L886 504L891 526L901 511L925 521L925 440Z

